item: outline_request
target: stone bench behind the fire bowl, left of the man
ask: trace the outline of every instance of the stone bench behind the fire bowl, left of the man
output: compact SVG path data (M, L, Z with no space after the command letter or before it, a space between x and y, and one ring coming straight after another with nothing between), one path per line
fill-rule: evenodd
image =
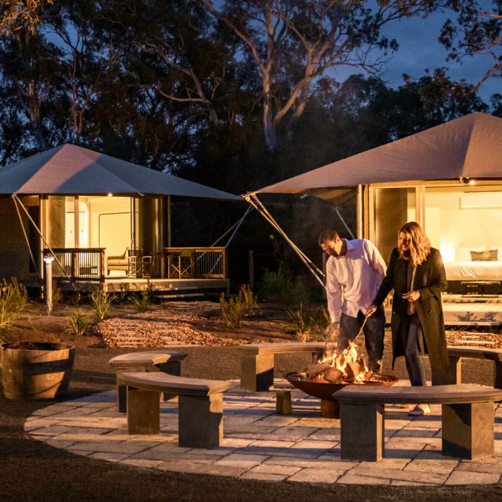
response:
M253 343L235 347L240 352L240 388L247 392L270 391L274 387L274 354L311 352L321 358L324 342ZM328 348L333 350L334 344Z

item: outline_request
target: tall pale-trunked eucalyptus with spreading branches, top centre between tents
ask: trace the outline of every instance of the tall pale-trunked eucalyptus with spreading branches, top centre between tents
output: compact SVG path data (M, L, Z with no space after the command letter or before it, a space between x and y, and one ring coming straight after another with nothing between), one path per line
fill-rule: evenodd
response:
M225 24L240 41L243 57L254 62L265 141L274 151L281 122L300 117L320 77L339 66L378 72L387 51L397 48L382 36L382 26L426 17L446 0L193 1Z

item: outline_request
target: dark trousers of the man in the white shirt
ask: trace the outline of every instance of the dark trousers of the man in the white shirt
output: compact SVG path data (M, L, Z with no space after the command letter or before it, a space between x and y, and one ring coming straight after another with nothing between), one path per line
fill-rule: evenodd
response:
M348 347L349 340L353 340L364 322L364 314L359 310L357 317L342 312L340 316L340 335L338 337L337 353ZM368 369L379 372L382 369L384 354L385 311L380 307L369 316L363 328L364 342L368 354Z

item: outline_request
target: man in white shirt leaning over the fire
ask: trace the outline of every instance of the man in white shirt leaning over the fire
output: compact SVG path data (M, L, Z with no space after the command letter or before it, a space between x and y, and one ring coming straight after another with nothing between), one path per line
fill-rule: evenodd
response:
M331 324L326 332L339 331L339 353L361 328L364 312L379 290L387 267L379 250L366 239L341 239L336 231L325 230L319 235L319 245L329 255L326 295ZM374 372L382 368L384 331L385 312L380 307L366 319L363 328L368 368Z

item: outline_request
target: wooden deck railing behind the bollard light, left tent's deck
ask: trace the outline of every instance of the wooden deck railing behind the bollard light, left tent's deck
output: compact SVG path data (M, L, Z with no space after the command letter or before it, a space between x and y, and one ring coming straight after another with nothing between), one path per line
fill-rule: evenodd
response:
M89 248L63 248L53 247L54 256L63 268L54 261L52 264L52 277L57 279L104 281L104 247ZM49 249L44 249L44 256L52 254ZM64 271L63 271L64 270Z

